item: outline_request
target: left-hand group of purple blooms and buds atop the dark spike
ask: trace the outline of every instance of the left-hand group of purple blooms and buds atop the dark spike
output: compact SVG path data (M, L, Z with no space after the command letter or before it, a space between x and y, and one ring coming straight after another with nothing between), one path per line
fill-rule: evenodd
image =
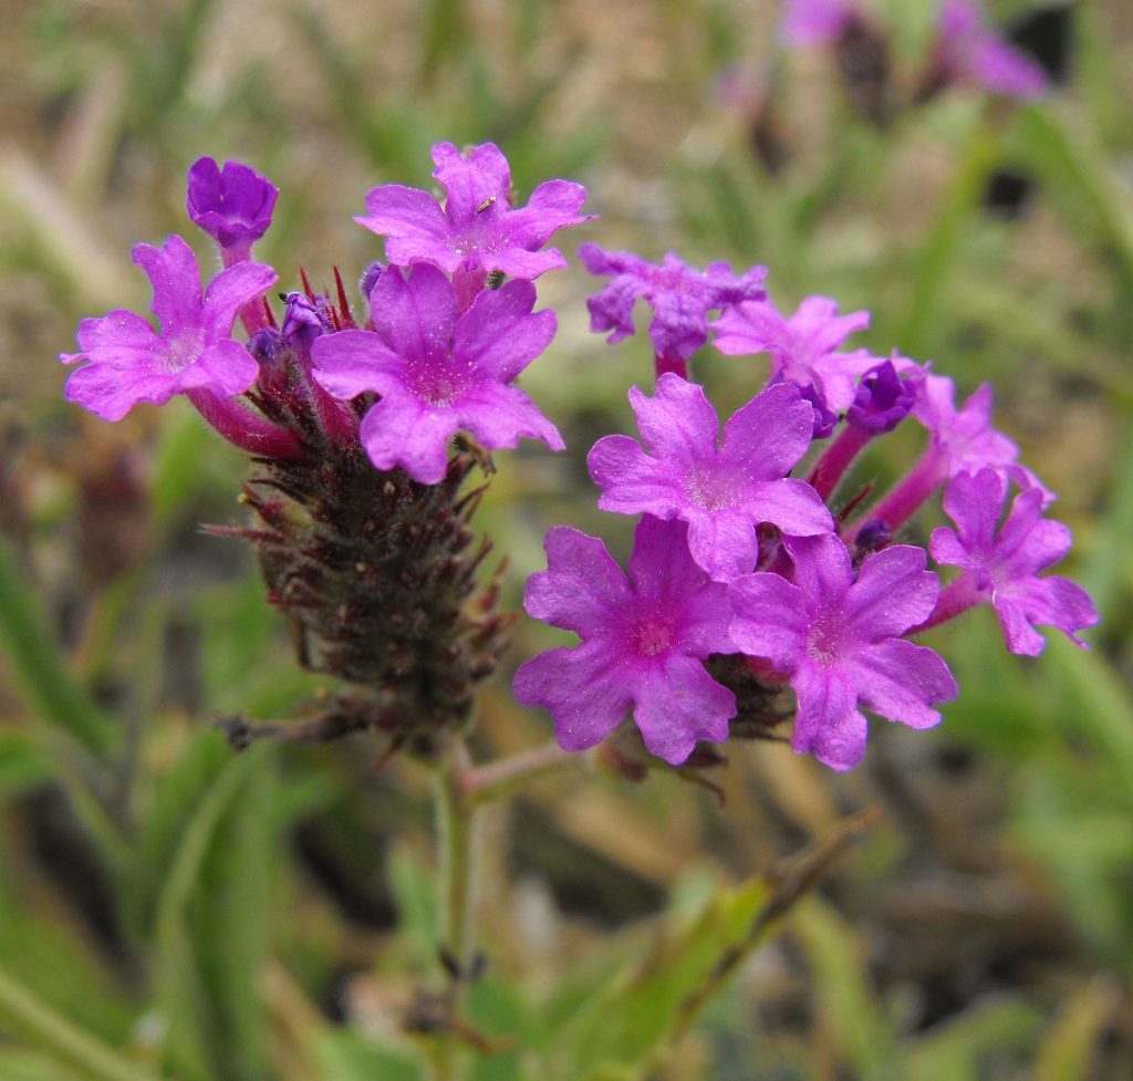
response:
M278 190L247 165L201 159L189 169L187 208L224 270L202 290L180 237L135 248L160 329L125 310L85 320L79 351L61 358L80 365L68 399L119 420L139 402L184 393L253 453L299 458L360 442L375 468L400 467L421 484L443 478L457 432L491 450L525 437L562 450L516 380L555 334L554 312L534 310L531 282L565 265L543 248L556 230L589 220L579 213L586 190L550 180L512 207L511 172L492 143L465 153L442 143L433 161L443 204L401 185L366 196L358 221L386 236L387 265L364 275L369 317L359 325L341 279L332 301L304 278L276 322L264 300L275 272L250 258ZM233 338L238 316L246 342Z

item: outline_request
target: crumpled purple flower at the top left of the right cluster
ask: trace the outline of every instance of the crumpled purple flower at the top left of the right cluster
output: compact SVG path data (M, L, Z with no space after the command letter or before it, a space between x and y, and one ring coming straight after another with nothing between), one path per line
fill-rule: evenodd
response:
M583 244L578 254L591 274L614 275L602 292L586 301L591 331L610 331L613 344L633 333L633 301L638 297L653 308L649 340L657 354L658 375L666 369L682 374L684 361L708 340L710 309L767 296L763 266L736 278L727 263L710 263L701 273L674 252L661 266L632 252L606 252L596 244Z

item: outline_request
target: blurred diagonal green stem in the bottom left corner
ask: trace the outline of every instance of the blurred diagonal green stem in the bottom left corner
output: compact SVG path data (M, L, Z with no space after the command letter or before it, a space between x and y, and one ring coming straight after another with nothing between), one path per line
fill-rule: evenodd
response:
M116 1054L2 971L0 1027L90 1081L159 1081L156 1074Z

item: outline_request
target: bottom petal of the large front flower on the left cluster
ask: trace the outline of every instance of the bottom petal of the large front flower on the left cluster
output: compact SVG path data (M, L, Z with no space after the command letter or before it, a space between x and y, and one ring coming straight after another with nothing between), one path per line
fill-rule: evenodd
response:
M440 484L449 463L449 439L459 424L450 411L429 409L391 389L363 417L358 439L377 469L401 466L420 484Z

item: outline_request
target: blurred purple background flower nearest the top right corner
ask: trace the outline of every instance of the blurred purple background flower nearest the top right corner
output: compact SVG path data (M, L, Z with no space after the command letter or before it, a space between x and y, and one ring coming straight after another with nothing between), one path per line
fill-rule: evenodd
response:
M971 0L946 0L940 7L934 58L938 78L968 79L1024 101L1041 96L1047 88L1042 68L982 23L980 8Z

